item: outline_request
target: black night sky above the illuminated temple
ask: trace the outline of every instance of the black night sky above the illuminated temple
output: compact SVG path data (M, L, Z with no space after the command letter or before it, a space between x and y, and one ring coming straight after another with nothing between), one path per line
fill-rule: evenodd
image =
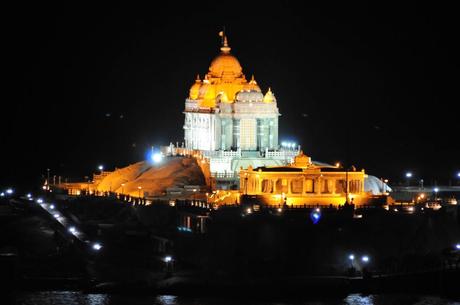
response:
M0 186L38 186L47 168L82 179L182 141L184 99L222 26L247 78L274 91L280 140L390 184L407 170L426 184L455 179L453 7L251 3L5 7Z

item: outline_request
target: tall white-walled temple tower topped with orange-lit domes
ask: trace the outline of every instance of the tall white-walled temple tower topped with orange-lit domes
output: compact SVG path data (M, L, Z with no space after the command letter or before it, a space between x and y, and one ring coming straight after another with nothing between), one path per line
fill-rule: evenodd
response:
M254 76L247 80L223 34L221 53L185 101L184 140L210 160L211 172L238 178L240 167L284 165L297 149L279 149L277 100Z

